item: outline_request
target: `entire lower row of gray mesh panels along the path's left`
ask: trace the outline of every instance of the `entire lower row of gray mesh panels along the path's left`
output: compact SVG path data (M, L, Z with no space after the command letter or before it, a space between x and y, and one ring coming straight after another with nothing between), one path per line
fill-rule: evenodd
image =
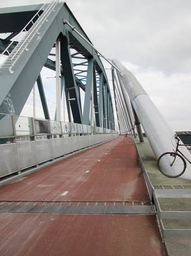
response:
M118 134L100 134L2 144L0 177L117 137Z

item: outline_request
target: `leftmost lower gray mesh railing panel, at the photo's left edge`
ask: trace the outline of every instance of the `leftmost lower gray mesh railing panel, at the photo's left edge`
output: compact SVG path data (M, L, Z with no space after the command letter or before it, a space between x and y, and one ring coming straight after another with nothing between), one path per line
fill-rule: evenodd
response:
M0 177L19 171L16 144L0 145Z

